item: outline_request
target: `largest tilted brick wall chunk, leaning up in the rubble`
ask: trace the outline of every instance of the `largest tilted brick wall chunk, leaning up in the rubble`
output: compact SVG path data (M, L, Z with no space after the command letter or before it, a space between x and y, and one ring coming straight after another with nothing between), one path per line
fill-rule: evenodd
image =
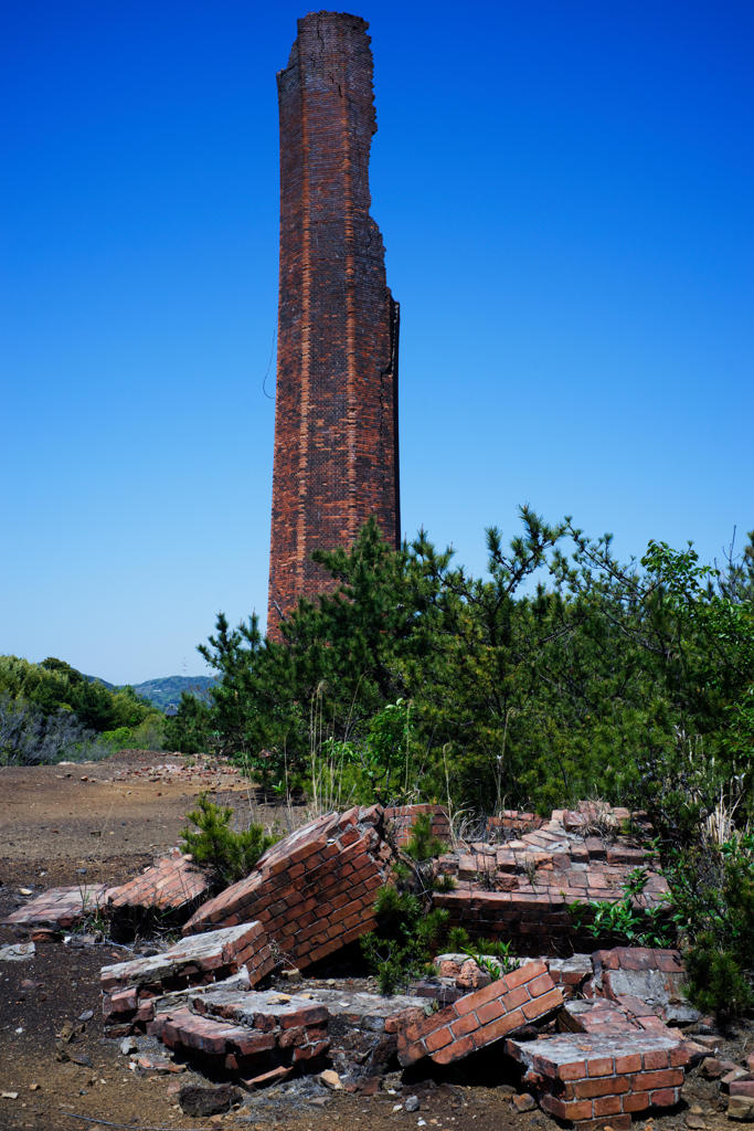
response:
M392 861L381 829L379 805L311 821L200 907L184 933L259 920L296 966L319 961L375 926L375 895Z

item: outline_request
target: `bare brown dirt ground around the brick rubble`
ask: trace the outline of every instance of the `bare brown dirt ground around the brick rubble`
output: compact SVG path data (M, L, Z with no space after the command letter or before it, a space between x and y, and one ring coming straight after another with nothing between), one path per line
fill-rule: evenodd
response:
M177 844L193 798L209 789L240 817L285 829L289 814L259 806L244 779L225 766L194 765L180 756L130 752L105 762L0 769L0 917L23 901L19 889L38 893L80 882L120 883L156 854ZM0 927L0 944L16 941ZM372 1097L330 1093L312 1081L284 1085L250 1096L223 1116L192 1119L176 1103L183 1083L206 1083L185 1070L141 1078L129 1071L120 1042L102 1035L99 969L131 952L111 942L73 934L64 943L38 944L34 957L0 962L0 1131L93 1131L93 1129L209 1129L259 1131L528 1131L554 1128L541 1113L518 1113L514 1089L494 1057L485 1085L459 1065L444 1080L388 1078L390 1090ZM88 1017L92 1011L92 1017ZM85 1018L85 1020L80 1020ZM78 1033L59 1037L66 1022ZM740 1055L740 1034L731 1052ZM752 1051L751 1048L748 1050ZM62 1057L62 1059L61 1059ZM14 1095L17 1094L17 1096ZM410 1095L419 1110L408 1113ZM717 1087L692 1076L683 1108L639 1121L638 1131L686 1128L696 1112L713 1131L730 1126L717 1108ZM694 1125L697 1125L699 1119Z

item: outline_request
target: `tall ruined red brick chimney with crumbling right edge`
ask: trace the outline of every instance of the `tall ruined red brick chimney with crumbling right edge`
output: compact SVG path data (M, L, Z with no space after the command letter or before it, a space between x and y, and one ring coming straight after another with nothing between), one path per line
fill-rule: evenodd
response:
M369 25L311 12L278 74L280 285L268 634L332 588L313 550L398 546L398 304L370 216Z

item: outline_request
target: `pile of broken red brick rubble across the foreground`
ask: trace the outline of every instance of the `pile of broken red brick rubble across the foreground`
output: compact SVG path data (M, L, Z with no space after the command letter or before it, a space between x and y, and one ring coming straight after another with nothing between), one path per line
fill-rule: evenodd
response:
M179 943L102 969L105 1031L156 1038L165 1063L245 1089L329 1071L339 1087L373 1093L399 1067L448 1071L495 1045L522 1097L584 1131L623 1131L635 1114L676 1107L686 1070L716 1047L688 1036L699 1015L683 996L679 953L573 952L574 901L625 898L636 867L644 906L666 890L651 855L621 834L625 811L603 810L599 821L586 805L549 821L505 813L484 839L436 861L456 887L435 903L473 936L512 940L518 966L441 955L432 975L390 998L304 979L375 926L375 893L419 813L435 831L448 827L439 806L352 809L298 829L214 896L176 852L120 888L49 891L6 922L42 941L93 906L115 918L156 908L182 917ZM734 1069L729 1115L754 1119L754 1073ZM720 1078L730 1072L722 1064Z

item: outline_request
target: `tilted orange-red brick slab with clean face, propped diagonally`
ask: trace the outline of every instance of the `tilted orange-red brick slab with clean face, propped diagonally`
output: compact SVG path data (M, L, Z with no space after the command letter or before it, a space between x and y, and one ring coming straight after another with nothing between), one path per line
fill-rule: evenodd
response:
M398 1060L406 1068L423 1056L451 1064L484 1048L563 1004L543 961L527 962L483 990L459 998L398 1035Z

